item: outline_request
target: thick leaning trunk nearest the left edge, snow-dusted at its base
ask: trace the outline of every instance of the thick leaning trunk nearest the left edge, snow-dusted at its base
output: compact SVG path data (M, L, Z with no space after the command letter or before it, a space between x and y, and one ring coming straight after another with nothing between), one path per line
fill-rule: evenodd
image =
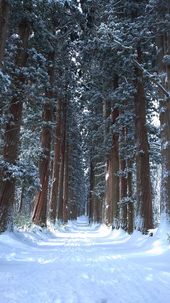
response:
M31 9L27 7L30 12ZM18 67L26 67L27 64L27 48L29 40L30 26L24 20L19 26L20 42L18 43L18 54L15 58L15 65ZM2 152L3 160L9 165L15 164L17 159L19 134L21 127L21 116L23 98L20 93L21 86L25 83L25 77L19 74L14 86L16 88L15 97L10 101L8 115L8 124L5 128L4 148ZM15 192L15 179L10 179L10 173L4 175L3 169L0 170L0 234L4 231L13 231L13 200ZM3 181L4 178L9 178Z

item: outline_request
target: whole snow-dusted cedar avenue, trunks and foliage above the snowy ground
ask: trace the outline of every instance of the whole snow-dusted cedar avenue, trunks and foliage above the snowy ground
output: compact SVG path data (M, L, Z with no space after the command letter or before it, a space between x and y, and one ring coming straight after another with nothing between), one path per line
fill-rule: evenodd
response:
M1 0L0 234L86 213L170 220L170 2Z

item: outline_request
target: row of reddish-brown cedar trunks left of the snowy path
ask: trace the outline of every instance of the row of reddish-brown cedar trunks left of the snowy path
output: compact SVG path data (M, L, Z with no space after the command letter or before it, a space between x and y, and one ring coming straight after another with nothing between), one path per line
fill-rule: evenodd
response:
M26 5L25 5L26 4ZM31 12L31 1L25 0L25 11ZM5 52L5 42L8 28L8 15L10 4L6 0L0 2L0 68L3 70L3 58ZM18 53L15 57L15 65L19 68L26 67L27 65L27 49L30 37L30 26L25 20L21 20L19 25L20 41L18 42ZM47 73L49 76L50 89L45 91L45 98L52 99L53 85L54 85L54 59L55 51L49 51L47 62L52 62L48 65ZM59 78L61 78L62 72L59 71ZM19 83L19 84L18 84ZM18 78L13 82L16 90L21 85L25 84L25 77L22 73L18 75ZM39 158L39 179L42 185L41 190L37 192L34 202L34 208L32 212L31 220L38 225L46 225L46 214L48 213L49 219L55 223L56 219L61 221L68 221L77 219L77 215L80 216L80 208L71 203L73 201L73 190L69 188L71 183L71 172L69 173L69 160L72 159L73 146L69 148L67 142L67 82L65 85L65 97L60 95L57 98L57 112L55 116L55 135L52 142L52 148L54 149L54 159L50 164L50 151L51 151L51 128L43 126L41 130L41 155ZM8 109L8 115L12 115L13 118L9 118L8 124L5 128L4 148L2 152L3 160L8 162L9 165L14 164L17 159L19 135L22 117L23 102L18 102L18 95L15 94L11 98ZM2 106L1 112L2 114ZM43 122L46 125L52 122L53 106L50 102L43 105ZM12 122L12 123L11 123ZM51 167L50 167L51 165ZM50 176L49 176L50 172ZM0 234L5 231L13 231L13 204L15 196L15 180L11 181L10 172L5 176L7 181L3 181L4 171L0 170ZM49 188L49 179L51 181L51 188ZM58 197L58 199L57 199ZM19 210L22 208L21 193ZM48 201L47 201L48 200ZM48 207L48 209L47 209ZM85 213L85 209L83 210Z

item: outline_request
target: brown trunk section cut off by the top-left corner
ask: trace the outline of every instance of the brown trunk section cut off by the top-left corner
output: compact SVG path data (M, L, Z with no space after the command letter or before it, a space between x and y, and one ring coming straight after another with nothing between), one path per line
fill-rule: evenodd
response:
M8 28L8 15L9 15L10 4L8 0L1 0L0 2L0 69L3 68L4 52L6 35Z

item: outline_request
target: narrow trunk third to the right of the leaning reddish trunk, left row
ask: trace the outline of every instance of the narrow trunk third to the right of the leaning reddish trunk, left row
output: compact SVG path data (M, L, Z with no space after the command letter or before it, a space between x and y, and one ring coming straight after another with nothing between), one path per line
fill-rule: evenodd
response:
M69 146L67 142L65 153L65 168L64 168L64 223L68 221L68 176L69 176Z

